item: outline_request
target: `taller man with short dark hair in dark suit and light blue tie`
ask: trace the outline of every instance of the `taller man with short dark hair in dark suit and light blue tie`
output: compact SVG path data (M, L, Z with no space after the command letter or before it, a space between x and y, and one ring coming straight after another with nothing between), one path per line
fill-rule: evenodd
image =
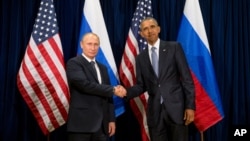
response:
M193 122L195 110L193 80L181 45L160 40L159 33L154 18L141 22L140 35L147 40L148 49L136 57L137 82L127 89L126 98L148 92L147 123L151 141L187 141L187 125Z

